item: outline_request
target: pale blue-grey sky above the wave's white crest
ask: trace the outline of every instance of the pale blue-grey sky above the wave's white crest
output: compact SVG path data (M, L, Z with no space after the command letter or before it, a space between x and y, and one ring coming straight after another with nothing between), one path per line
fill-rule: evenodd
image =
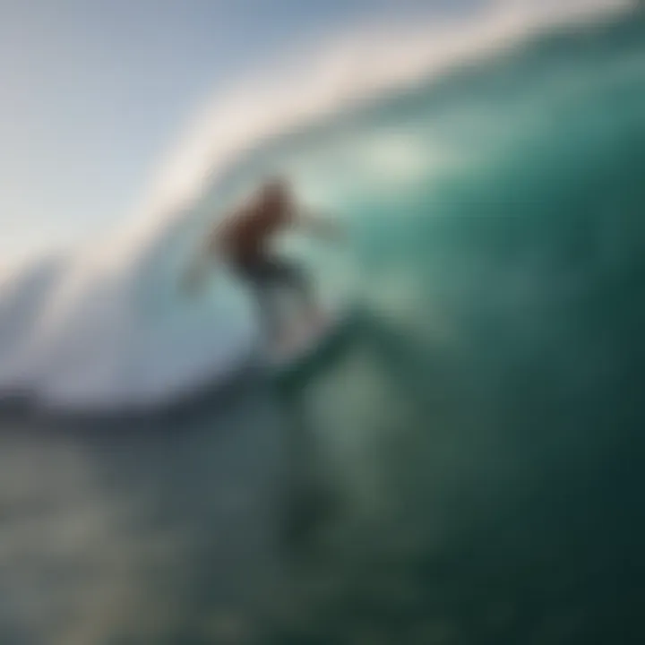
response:
M131 215L193 112L293 42L472 0L0 0L0 263Z

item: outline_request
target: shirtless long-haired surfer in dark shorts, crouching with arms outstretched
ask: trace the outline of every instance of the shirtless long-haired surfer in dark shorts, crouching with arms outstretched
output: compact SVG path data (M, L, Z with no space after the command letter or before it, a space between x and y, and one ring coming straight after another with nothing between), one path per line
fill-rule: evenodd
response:
M304 269L269 247L272 238L287 228L299 228L325 238L338 236L338 228L330 220L315 217L297 202L286 179L271 178L207 231L201 252L185 276L185 288L193 290L206 262L217 257L252 289L263 323L274 336L280 332L275 289L287 289L296 295L306 322L319 323L320 308Z

